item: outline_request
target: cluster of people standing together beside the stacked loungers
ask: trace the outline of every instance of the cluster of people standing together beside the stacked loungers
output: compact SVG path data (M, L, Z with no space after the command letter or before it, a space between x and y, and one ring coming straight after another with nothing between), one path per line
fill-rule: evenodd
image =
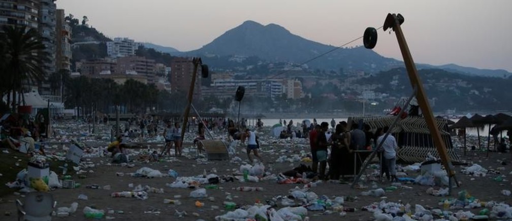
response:
M333 126L333 124L331 124ZM329 123L314 124L309 131L312 156L311 169L319 179L338 180L340 176L353 174L354 166L359 169L370 152L378 147L381 161L381 176L385 173L389 181L396 181L397 142L392 134L387 134L389 127L371 131L368 125L352 123L351 128L345 121L334 124L334 131L329 131ZM380 145L380 146L379 146ZM328 149L330 148L330 154ZM354 162L354 151L358 158ZM326 171L329 165L329 171Z

